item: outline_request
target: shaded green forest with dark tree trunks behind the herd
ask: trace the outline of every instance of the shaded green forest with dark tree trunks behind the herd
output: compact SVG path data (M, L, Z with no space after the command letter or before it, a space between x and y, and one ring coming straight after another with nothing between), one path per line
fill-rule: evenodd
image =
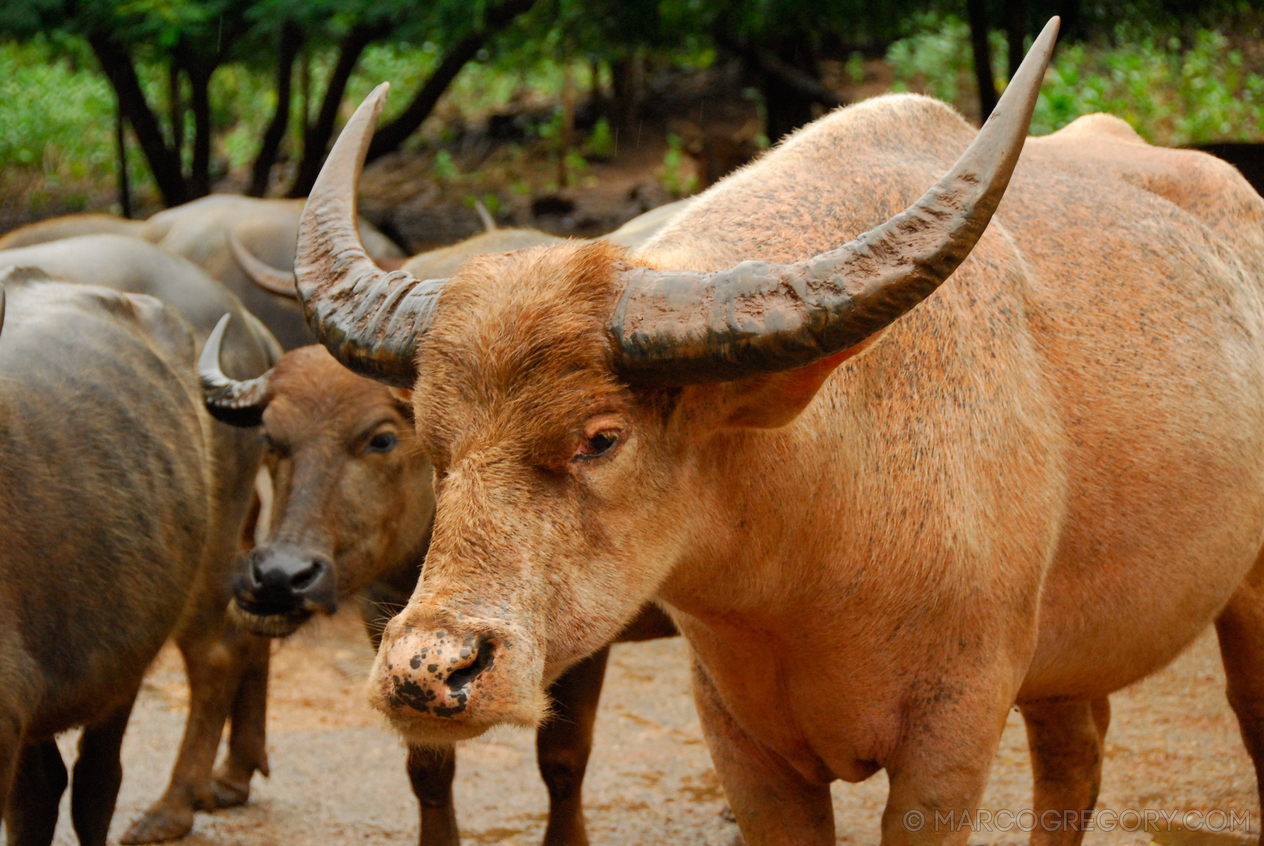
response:
M977 121L1052 14L1034 133L1109 111L1158 144L1264 140L1256 3L8 0L0 229L305 196L389 81L365 211L407 249L477 230L475 200L588 234L867 96L921 91Z

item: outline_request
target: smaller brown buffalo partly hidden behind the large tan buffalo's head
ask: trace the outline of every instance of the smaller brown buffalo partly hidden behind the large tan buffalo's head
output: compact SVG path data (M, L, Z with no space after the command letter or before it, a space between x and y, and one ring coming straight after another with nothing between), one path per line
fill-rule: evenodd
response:
M257 379L231 379L217 362L221 331L202 353L207 410L234 425L262 425L276 486L268 541L244 563L234 611L257 634L284 637L359 593L378 645L382 627L416 588L435 516L434 470L416 449L412 406L319 345L286 353ZM675 634L647 606L616 640ZM608 655L608 647L598 650L549 689L554 709L536 742L550 797L549 846L588 842L581 788ZM459 840L454 775L450 745L410 750L422 846Z

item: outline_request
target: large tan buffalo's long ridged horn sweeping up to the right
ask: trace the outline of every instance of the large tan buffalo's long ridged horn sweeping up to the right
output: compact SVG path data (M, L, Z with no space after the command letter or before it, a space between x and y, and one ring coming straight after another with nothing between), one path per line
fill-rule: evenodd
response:
M1057 35L1053 18L948 173L842 248L715 273L624 271L627 287L609 321L617 369L662 386L787 371L854 346L930 296L973 249L1005 193Z

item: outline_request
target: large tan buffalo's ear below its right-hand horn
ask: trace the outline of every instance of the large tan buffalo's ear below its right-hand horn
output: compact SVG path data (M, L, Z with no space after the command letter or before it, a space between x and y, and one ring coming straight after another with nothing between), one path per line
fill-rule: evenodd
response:
M886 330L875 333L854 346L805 367L714 386L718 392L713 400L718 425L779 429L793 422L839 364L865 353L885 334Z

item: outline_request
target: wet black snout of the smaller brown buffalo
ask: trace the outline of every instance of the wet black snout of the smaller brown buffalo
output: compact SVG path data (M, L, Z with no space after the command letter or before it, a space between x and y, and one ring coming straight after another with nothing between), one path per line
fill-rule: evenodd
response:
M325 555L292 546L258 546L236 583L235 611L259 635L284 637L313 613L337 611L337 578Z

